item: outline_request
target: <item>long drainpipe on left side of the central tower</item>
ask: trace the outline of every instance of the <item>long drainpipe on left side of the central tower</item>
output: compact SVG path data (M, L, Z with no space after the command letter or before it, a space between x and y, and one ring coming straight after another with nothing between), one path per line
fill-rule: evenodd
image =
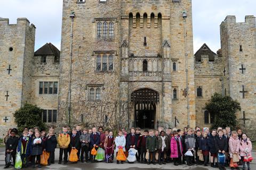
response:
M72 44L73 44L73 23L75 18L75 12L71 12L69 17L71 18L70 28L70 57L69 57L69 86L68 86L68 125L70 125L70 112L71 112L71 74L72 74Z

